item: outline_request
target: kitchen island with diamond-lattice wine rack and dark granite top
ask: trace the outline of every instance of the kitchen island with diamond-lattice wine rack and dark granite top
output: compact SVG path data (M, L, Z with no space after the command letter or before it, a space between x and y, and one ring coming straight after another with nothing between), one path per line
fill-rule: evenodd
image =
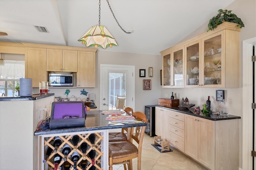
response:
M49 158L47 159L47 162L44 164L42 161L44 160L45 152L48 147L54 148L52 144L50 144L56 136L59 136L63 142L59 146L59 148L63 147L64 144L68 143L72 148L74 148L74 145L72 142L68 142L68 140L72 139L74 135L78 135L80 138L80 142L77 144L77 148L83 143L86 142L88 144L88 148L86 151L86 156L84 156L85 159L88 160L88 168L92 166L91 162L92 160L89 158L88 153L92 150L93 144L90 142L88 137L91 134L95 134L96 140L95 140L95 167L96 169L100 170L107 170L108 169L108 131L110 129L115 128L124 128L124 127L139 127L139 126L146 126L146 123L134 123L130 122L127 124L114 124L109 125L109 121L106 121L106 117L108 115L102 115L100 111L88 111L86 113L86 121L85 121L85 127L77 127L77 128L58 128L58 129L48 129L48 130L36 130L34 132L35 136L39 136L40 138L40 156L38 158L40 166L38 167L41 170L48 170L48 168L54 167L53 163L53 157L54 152L50 154ZM77 152L80 155L83 155L83 152L78 149ZM64 156L61 152L61 150L58 149L57 153L59 153L61 156ZM74 150L68 154L69 156L72 156L74 153ZM81 156L80 160L78 161L78 164L83 160L83 156ZM67 160L70 162L70 164L73 164L70 159ZM59 166L62 166L64 161L62 160L59 164ZM77 167L78 170L82 170L80 167ZM73 168L71 168L73 170Z

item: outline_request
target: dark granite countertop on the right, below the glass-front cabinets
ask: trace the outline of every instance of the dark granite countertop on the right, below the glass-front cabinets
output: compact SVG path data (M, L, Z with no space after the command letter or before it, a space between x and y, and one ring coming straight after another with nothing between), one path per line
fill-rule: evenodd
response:
M162 107L159 105L156 105L157 107ZM228 116L221 116L221 115L215 115L215 114L203 114L202 110L200 110L200 114L197 114L194 112L194 108L190 108L190 109L181 109L179 107L172 107L172 108L167 108L167 107L162 107L164 109L169 109L171 111L176 111L176 112L180 112L180 113L184 113L184 114L188 114L188 115L192 115L192 116L196 116L196 117L201 117L204 119L209 119L211 121L221 121L221 120L229 120L229 119L241 119L240 116L234 116L234 115L228 115Z

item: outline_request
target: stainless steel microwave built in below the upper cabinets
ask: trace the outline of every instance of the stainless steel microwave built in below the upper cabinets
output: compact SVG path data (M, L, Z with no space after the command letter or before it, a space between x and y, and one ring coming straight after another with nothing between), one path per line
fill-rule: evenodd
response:
M49 74L49 86L73 86L72 74Z

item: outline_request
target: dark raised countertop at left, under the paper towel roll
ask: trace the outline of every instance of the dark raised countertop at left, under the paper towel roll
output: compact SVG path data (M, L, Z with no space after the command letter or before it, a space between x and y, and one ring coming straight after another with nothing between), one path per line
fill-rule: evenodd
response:
M28 97L20 97L20 96L10 97L10 96L2 96L2 97L0 97L0 101L38 100L38 99L43 99L43 98L45 98L45 97L50 97L50 96L54 96L54 93L34 94L34 95L28 96Z

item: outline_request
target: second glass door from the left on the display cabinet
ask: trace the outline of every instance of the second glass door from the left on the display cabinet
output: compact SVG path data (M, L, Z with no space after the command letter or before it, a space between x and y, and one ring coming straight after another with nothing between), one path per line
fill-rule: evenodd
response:
M184 87L184 46L172 51L171 87Z

